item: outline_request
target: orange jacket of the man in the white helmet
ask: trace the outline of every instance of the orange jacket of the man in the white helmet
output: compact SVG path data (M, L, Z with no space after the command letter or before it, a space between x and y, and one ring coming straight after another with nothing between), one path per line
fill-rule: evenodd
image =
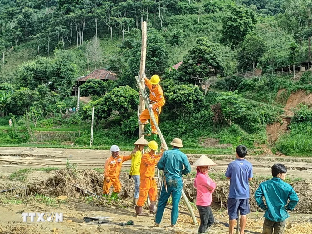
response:
M118 155L117 158L114 158L113 156L107 158L104 166L104 178L117 179L120 174L122 163L130 159L131 155Z

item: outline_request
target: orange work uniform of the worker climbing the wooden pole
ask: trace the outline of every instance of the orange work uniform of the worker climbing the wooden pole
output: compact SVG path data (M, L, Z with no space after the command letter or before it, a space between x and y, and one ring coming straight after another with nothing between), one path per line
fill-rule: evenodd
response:
M154 112L155 119L158 124L158 114L160 114L161 112L161 107L165 105L163 89L160 87L159 84L153 89L151 81L147 78L144 78L144 80L145 80L145 85L149 88L149 99L151 100L151 104L153 105L152 110ZM158 113L156 109L159 110ZM146 124L148 119L150 119L149 111L145 109L140 115L140 121L142 124ZM150 122L151 122L151 127L152 127L152 133L158 134L153 121L150 120Z

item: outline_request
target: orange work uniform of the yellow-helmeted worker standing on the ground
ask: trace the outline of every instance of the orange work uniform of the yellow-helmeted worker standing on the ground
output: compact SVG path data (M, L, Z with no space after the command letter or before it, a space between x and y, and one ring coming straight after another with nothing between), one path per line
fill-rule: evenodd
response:
M156 201L157 196L157 184L155 180L155 166L160 160L160 155L150 155L145 153L142 155L141 166L140 166L140 194L138 200L138 206L144 206L147 196L151 202Z

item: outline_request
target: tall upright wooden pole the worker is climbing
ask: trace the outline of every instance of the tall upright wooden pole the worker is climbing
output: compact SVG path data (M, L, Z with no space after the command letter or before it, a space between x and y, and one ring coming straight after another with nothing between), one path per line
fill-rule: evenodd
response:
M147 41L147 26L146 22L142 22L142 47L141 47L141 63L140 63L140 74L139 79L142 87L145 88L145 61L146 61L146 41ZM139 115L145 109L145 103L143 97L140 96L140 105L139 105ZM142 137L142 133L144 132L144 125L140 124L139 121L139 138ZM144 136L143 136L144 137Z

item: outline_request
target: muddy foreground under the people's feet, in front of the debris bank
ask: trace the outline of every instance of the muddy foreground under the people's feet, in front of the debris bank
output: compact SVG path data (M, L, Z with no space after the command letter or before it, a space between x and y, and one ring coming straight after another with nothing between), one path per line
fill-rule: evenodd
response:
M63 222L23 222L21 212L63 212ZM147 212L147 211L146 211ZM228 222L226 213L219 211L213 211L214 217L217 222ZM195 211L197 214L197 212ZM262 214L250 214L248 215L246 230L261 233L263 225ZM111 217L113 221L112 225L97 225L87 224L83 222L83 217ZM285 234L310 234L312 233L312 224L307 222L309 217L307 215L293 215L287 222ZM82 203L68 203L60 204L57 208L48 207L41 203L29 203L26 205L2 205L0 207L0 233L3 234L43 234L43 233L110 233L110 234L196 234L198 227L195 227L192 223L191 217L188 215L180 214L178 223L175 228L169 227L170 225L170 211L165 210L163 221L160 227L154 227L154 217L136 217L134 209L121 209L121 208L105 208L105 207L93 207L90 204ZM120 227L114 225L114 223L127 222L129 220L134 221L133 226ZM36 218L35 218L36 221ZM199 222L199 219L198 219ZM226 234L228 228L223 224L215 224L209 233L214 234ZM248 232L246 232L248 233Z

